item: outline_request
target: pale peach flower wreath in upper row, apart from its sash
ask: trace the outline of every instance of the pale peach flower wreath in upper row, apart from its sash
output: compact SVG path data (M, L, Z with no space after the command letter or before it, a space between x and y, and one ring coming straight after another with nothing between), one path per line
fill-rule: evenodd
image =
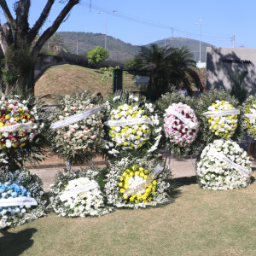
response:
M65 96L58 108L50 113L49 120L66 120L78 113L85 113L93 108L99 108L99 98L90 96L86 90L79 94ZM103 147L102 112L90 114L73 124L49 131L49 143L52 150L64 160L71 163L83 163L101 153Z

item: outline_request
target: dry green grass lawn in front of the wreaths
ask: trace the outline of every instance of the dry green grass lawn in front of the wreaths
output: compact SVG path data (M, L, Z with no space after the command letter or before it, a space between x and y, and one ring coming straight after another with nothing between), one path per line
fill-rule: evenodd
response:
M0 235L0 255L255 255L256 182L228 191L200 189L195 178L178 183L164 207L102 218L51 212Z

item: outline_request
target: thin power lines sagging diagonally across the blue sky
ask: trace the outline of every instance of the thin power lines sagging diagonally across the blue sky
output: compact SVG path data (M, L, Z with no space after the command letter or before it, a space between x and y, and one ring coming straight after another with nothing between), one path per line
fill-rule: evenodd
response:
M80 3L81 5L83 6L86 6L90 9L95 9L96 11L110 11L110 9L106 9L106 8L103 8L99 5L96 5L96 4L90 4L90 3ZM160 24L160 23L157 23L157 22L154 22L152 20L142 20L140 18L138 18L137 16L134 16L134 15L126 15L126 14L123 14L121 12L116 12L116 13L111 13L109 15L113 15L113 16L116 16L120 19L123 19L123 20L128 20L128 21L133 21L137 24L142 24L142 25L146 25L146 26L154 26L154 27L158 27L158 28L162 28L162 29L172 29L172 33L173 32L177 32L177 33L180 33L180 34L183 34L183 35L187 35L187 36L194 36L194 37L197 37L197 38L200 38L200 34L199 33L196 33L196 32L189 32L189 31L186 31L184 29L181 29L181 28L177 28L177 27L171 27L171 26L167 26L167 25L164 25L164 24ZM219 41L228 41L230 40L231 37L229 36L226 36L226 37L217 37L217 36L212 36L212 35L207 35L207 33L205 32L204 35L202 35L202 38L209 38L209 39L212 39L212 40L219 40Z

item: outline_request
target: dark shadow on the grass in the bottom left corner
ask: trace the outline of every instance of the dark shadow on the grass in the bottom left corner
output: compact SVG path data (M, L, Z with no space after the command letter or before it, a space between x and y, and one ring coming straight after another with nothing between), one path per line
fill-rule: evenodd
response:
M18 233L10 233L9 230L1 230L3 237L0 237L0 255L1 256L18 256L29 247L32 247L33 233L36 229L21 230Z

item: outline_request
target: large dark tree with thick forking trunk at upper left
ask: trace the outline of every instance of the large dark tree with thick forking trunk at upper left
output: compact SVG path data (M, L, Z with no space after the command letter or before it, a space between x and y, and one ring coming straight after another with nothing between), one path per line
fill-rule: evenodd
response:
M61 22L67 17L71 9L79 3L79 0L59 1L65 3L65 6L56 16L51 26L38 36L55 2L55 0L47 0L38 20L33 26L30 26L28 17L31 0L15 2L15 18L11 14L6 1L0 0L0 9L3 10L7 20L3 25L0 23L0 46L5 60L6 90L10 90L15 85L16 80L22 90L26 89L28 74L38 57L40 49L56 32ZM37 36L38 40L35 43Z

